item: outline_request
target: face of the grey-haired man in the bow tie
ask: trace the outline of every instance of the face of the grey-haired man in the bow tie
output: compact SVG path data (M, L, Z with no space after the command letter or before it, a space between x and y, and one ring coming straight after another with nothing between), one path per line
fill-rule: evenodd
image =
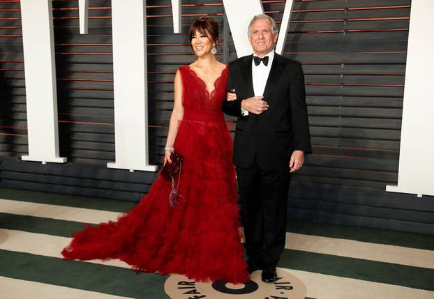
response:
M267 19L253 22L248 40L257 56L264 56L274 49L278 33L272 33L271 23Z

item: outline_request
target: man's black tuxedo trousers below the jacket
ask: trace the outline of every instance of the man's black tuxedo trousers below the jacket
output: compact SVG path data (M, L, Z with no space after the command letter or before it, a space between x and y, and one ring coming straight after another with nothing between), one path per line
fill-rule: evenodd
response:
M241 219L248 259L258 265L276 265L285 249L290 169L264 171L255 162L237 167Z

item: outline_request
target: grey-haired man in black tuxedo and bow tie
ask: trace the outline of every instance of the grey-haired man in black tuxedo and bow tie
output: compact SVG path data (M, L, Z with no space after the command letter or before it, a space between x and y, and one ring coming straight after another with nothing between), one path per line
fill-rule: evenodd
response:
M253 55L229 64L223 111L236 116L233 162L241 200L248 272L262 269L275 282L285 248L290 173L311 153L301 63L274 52L277 26L253 17L248 38Z

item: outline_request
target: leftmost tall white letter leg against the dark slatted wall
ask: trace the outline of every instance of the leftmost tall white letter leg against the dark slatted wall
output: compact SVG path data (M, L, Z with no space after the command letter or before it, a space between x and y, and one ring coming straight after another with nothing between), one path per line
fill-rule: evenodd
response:
M21 0L29 155L22 160L66 162L59 157L52 0Z

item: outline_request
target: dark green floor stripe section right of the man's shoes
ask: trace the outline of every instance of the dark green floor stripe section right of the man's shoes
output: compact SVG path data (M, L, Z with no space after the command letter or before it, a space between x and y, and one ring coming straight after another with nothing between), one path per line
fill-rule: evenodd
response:
M434 291L434 269L331 254L285 250L279 267Z

